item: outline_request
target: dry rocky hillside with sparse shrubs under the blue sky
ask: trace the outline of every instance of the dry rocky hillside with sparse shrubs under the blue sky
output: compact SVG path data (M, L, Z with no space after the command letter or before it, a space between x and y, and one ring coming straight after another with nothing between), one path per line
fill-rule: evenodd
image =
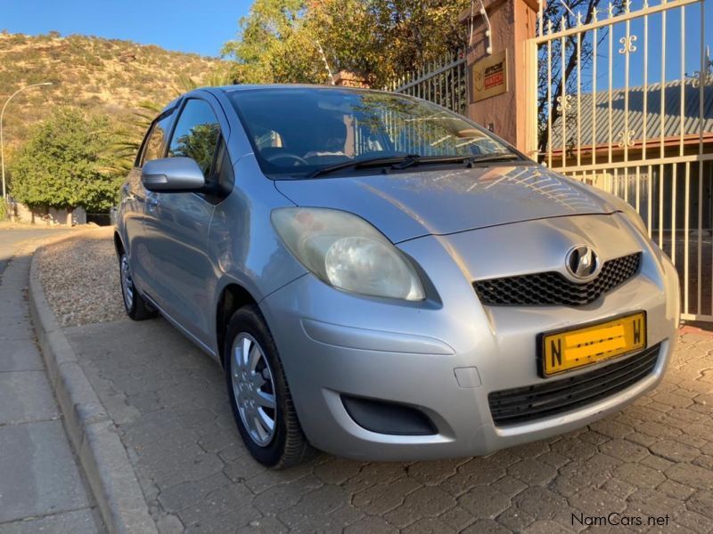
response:
M118 121L142 101L168 103L182 92L178 78L206 84L222 62L159 46L94 36L0 33L0 106L16 89L38 82L12 100L5 113L6 146L17 146L29 126L53 106L101 112Z

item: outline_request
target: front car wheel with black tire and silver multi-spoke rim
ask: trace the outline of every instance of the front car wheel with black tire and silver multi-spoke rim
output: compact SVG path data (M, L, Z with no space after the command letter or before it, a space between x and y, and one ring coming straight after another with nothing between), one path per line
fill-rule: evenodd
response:
M241 308L228 323L225 378L235 424L253 458L283 469L314 456L299 425L275 340L255 305Z

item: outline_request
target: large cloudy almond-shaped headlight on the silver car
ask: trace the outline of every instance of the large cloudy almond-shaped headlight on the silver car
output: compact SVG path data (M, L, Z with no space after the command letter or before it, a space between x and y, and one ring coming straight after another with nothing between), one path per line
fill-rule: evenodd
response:
M411 263L361 217L327 208L281 207L271 219L292 255L327 284L363 295L425 298Z

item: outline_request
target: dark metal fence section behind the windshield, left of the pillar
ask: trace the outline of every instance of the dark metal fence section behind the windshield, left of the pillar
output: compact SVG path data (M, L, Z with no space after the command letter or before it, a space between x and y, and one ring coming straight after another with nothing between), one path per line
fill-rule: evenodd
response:
M422 98L464 115L468 107L466 78L465 50L462 50L395 80L386 90Z

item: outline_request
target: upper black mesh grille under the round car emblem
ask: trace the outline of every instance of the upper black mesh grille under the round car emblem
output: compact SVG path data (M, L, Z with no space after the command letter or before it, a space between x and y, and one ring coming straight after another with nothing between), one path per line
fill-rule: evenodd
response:
M480 302L487 306L563 305L594 302L604 293L630 279L639 270L641 253L622 256L602 265L596 278L578 284L560 272L537 272L501 279L473 282Z

